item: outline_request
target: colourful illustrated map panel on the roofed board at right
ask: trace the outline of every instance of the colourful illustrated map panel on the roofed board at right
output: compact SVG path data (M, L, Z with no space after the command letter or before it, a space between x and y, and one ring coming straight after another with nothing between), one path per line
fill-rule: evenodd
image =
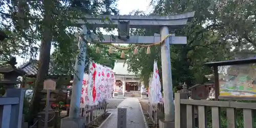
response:
M256 97L256 63L218 68L220 96Z

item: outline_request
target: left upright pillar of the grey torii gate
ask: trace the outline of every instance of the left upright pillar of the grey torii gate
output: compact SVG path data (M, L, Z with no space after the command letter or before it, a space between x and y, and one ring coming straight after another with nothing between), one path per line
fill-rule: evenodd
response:
M83 37L86 38L87 28L86 25L82 26ZM71 95L71 103L70 103L70 118L78 118L80 113L80 98L82 92L82 79L84 73L84 63L86 59L86 42L83 40L82 35L79 35L78 39L78 49L79 53L76 57L75 63L75 74L72 85L72 95Z

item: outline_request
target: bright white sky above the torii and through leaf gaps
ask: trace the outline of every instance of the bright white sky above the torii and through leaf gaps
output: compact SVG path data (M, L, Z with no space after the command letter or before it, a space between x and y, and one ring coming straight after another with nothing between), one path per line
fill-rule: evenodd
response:
M151 0L119 0L117 2L117 9L120 12L120 15L128 15L130 12L134 10L143 11L145 13L150 13L152 11L152 7L150 6ZM107 34L106 32L102 31L103 34ZM117 32L113 32L114 34ZM53 52L54 48L52 47L51 52ZM24 60L23 58L20 58L16 56L17 59L17 66L23 65L24 62L28 60ZM29 58L28 58L29 59ZM37 56L37 59L39 59L39 53Z

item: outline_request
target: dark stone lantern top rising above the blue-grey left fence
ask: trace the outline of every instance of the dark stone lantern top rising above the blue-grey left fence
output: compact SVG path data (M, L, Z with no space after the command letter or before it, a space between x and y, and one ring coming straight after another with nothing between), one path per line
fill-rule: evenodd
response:
M0 79L0 84L4 86L5 89L14 88L15 85L22 83L17 80L18 76L26 74L23 70L19 70L15 67L17 64L16 58L11 57L7 61L8 66L0 68L0 74L4 75L3 79Z

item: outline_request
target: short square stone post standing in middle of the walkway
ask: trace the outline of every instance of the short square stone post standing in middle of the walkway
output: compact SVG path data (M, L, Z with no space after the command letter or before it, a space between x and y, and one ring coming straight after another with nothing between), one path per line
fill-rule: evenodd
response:
M117 128L126 128L126 108L117 109Z

